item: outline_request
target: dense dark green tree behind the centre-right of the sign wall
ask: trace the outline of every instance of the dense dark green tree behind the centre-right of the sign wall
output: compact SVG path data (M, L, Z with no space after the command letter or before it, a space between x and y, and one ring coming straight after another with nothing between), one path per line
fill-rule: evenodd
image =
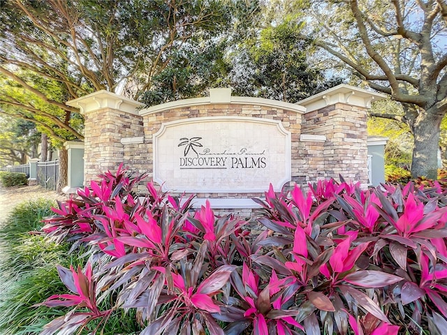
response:
M315 47L301 38L306 22L300 6L270 1L262 29L230 48L227 82L235 94L296 103L344 81L313 64Z

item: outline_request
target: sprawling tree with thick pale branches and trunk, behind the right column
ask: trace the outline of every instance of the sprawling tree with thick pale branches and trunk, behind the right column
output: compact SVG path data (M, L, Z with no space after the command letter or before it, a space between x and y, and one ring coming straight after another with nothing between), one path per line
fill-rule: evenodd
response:
M414 135L413 177L437 176L441 120L447 112L445 0L312 1L307 35L333 68L346 66L372 89L402 103L381 113Z

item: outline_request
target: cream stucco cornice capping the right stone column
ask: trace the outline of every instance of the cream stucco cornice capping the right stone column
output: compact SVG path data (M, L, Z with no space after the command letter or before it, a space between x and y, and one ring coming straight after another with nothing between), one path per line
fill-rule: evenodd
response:
M336 87L332 87L332 89L327 89L305 100L298 101L297 104L306 107L307 112L320 110L321 108L335 105L336 103L370 108L373 101L379 101L386 97L386 94L359 89L351 85L339 84Z

